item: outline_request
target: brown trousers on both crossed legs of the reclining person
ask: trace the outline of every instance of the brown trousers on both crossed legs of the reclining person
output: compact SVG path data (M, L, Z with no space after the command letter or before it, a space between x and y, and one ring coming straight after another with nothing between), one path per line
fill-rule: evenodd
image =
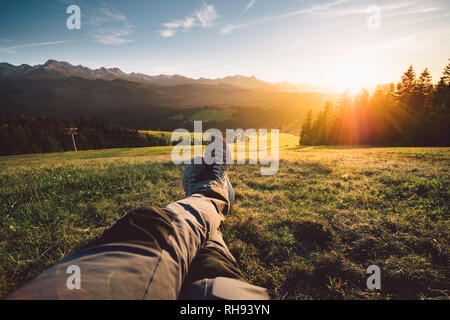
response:
M222 199L194 194L130 212L7 299L267 299L242 281L222 239Z

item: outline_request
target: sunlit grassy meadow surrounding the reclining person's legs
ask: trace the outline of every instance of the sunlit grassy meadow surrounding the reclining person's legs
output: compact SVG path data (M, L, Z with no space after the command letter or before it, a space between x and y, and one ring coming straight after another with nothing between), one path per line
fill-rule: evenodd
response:
M280 170L233 166L221 227L246 279L276 299L448 299L450 148L298 148ZM170 148L0 158L0 296L128 211L183 197ZM381 268L381 291L366 268Z

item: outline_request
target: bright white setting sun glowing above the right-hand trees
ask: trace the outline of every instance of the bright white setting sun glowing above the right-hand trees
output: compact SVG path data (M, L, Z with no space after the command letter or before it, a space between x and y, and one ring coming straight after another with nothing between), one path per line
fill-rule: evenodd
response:
M350 57L339 60L331 67L328 81L338 91L350 90L352 95L370 89L377 81L376 66L365 59Z

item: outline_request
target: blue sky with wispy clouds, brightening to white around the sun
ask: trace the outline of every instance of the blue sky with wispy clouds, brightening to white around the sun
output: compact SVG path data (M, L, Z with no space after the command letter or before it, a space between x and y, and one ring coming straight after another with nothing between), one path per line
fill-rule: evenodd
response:
M69 30L66 8L81 9ZM379 28L369 28L376 6ZM92 68L331 85L398 81L409 64L435 81L450 58L448 1L3 1L0 61L52 58Z

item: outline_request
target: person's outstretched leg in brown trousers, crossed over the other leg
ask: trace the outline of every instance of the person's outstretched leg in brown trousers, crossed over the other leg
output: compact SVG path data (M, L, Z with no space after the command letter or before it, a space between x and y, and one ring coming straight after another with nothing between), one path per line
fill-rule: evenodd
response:
M63 259L9 299L177 299L188 267L230 210L217 181L167 207L127 214L91 246ZM69 266L81 289L68 289Z

